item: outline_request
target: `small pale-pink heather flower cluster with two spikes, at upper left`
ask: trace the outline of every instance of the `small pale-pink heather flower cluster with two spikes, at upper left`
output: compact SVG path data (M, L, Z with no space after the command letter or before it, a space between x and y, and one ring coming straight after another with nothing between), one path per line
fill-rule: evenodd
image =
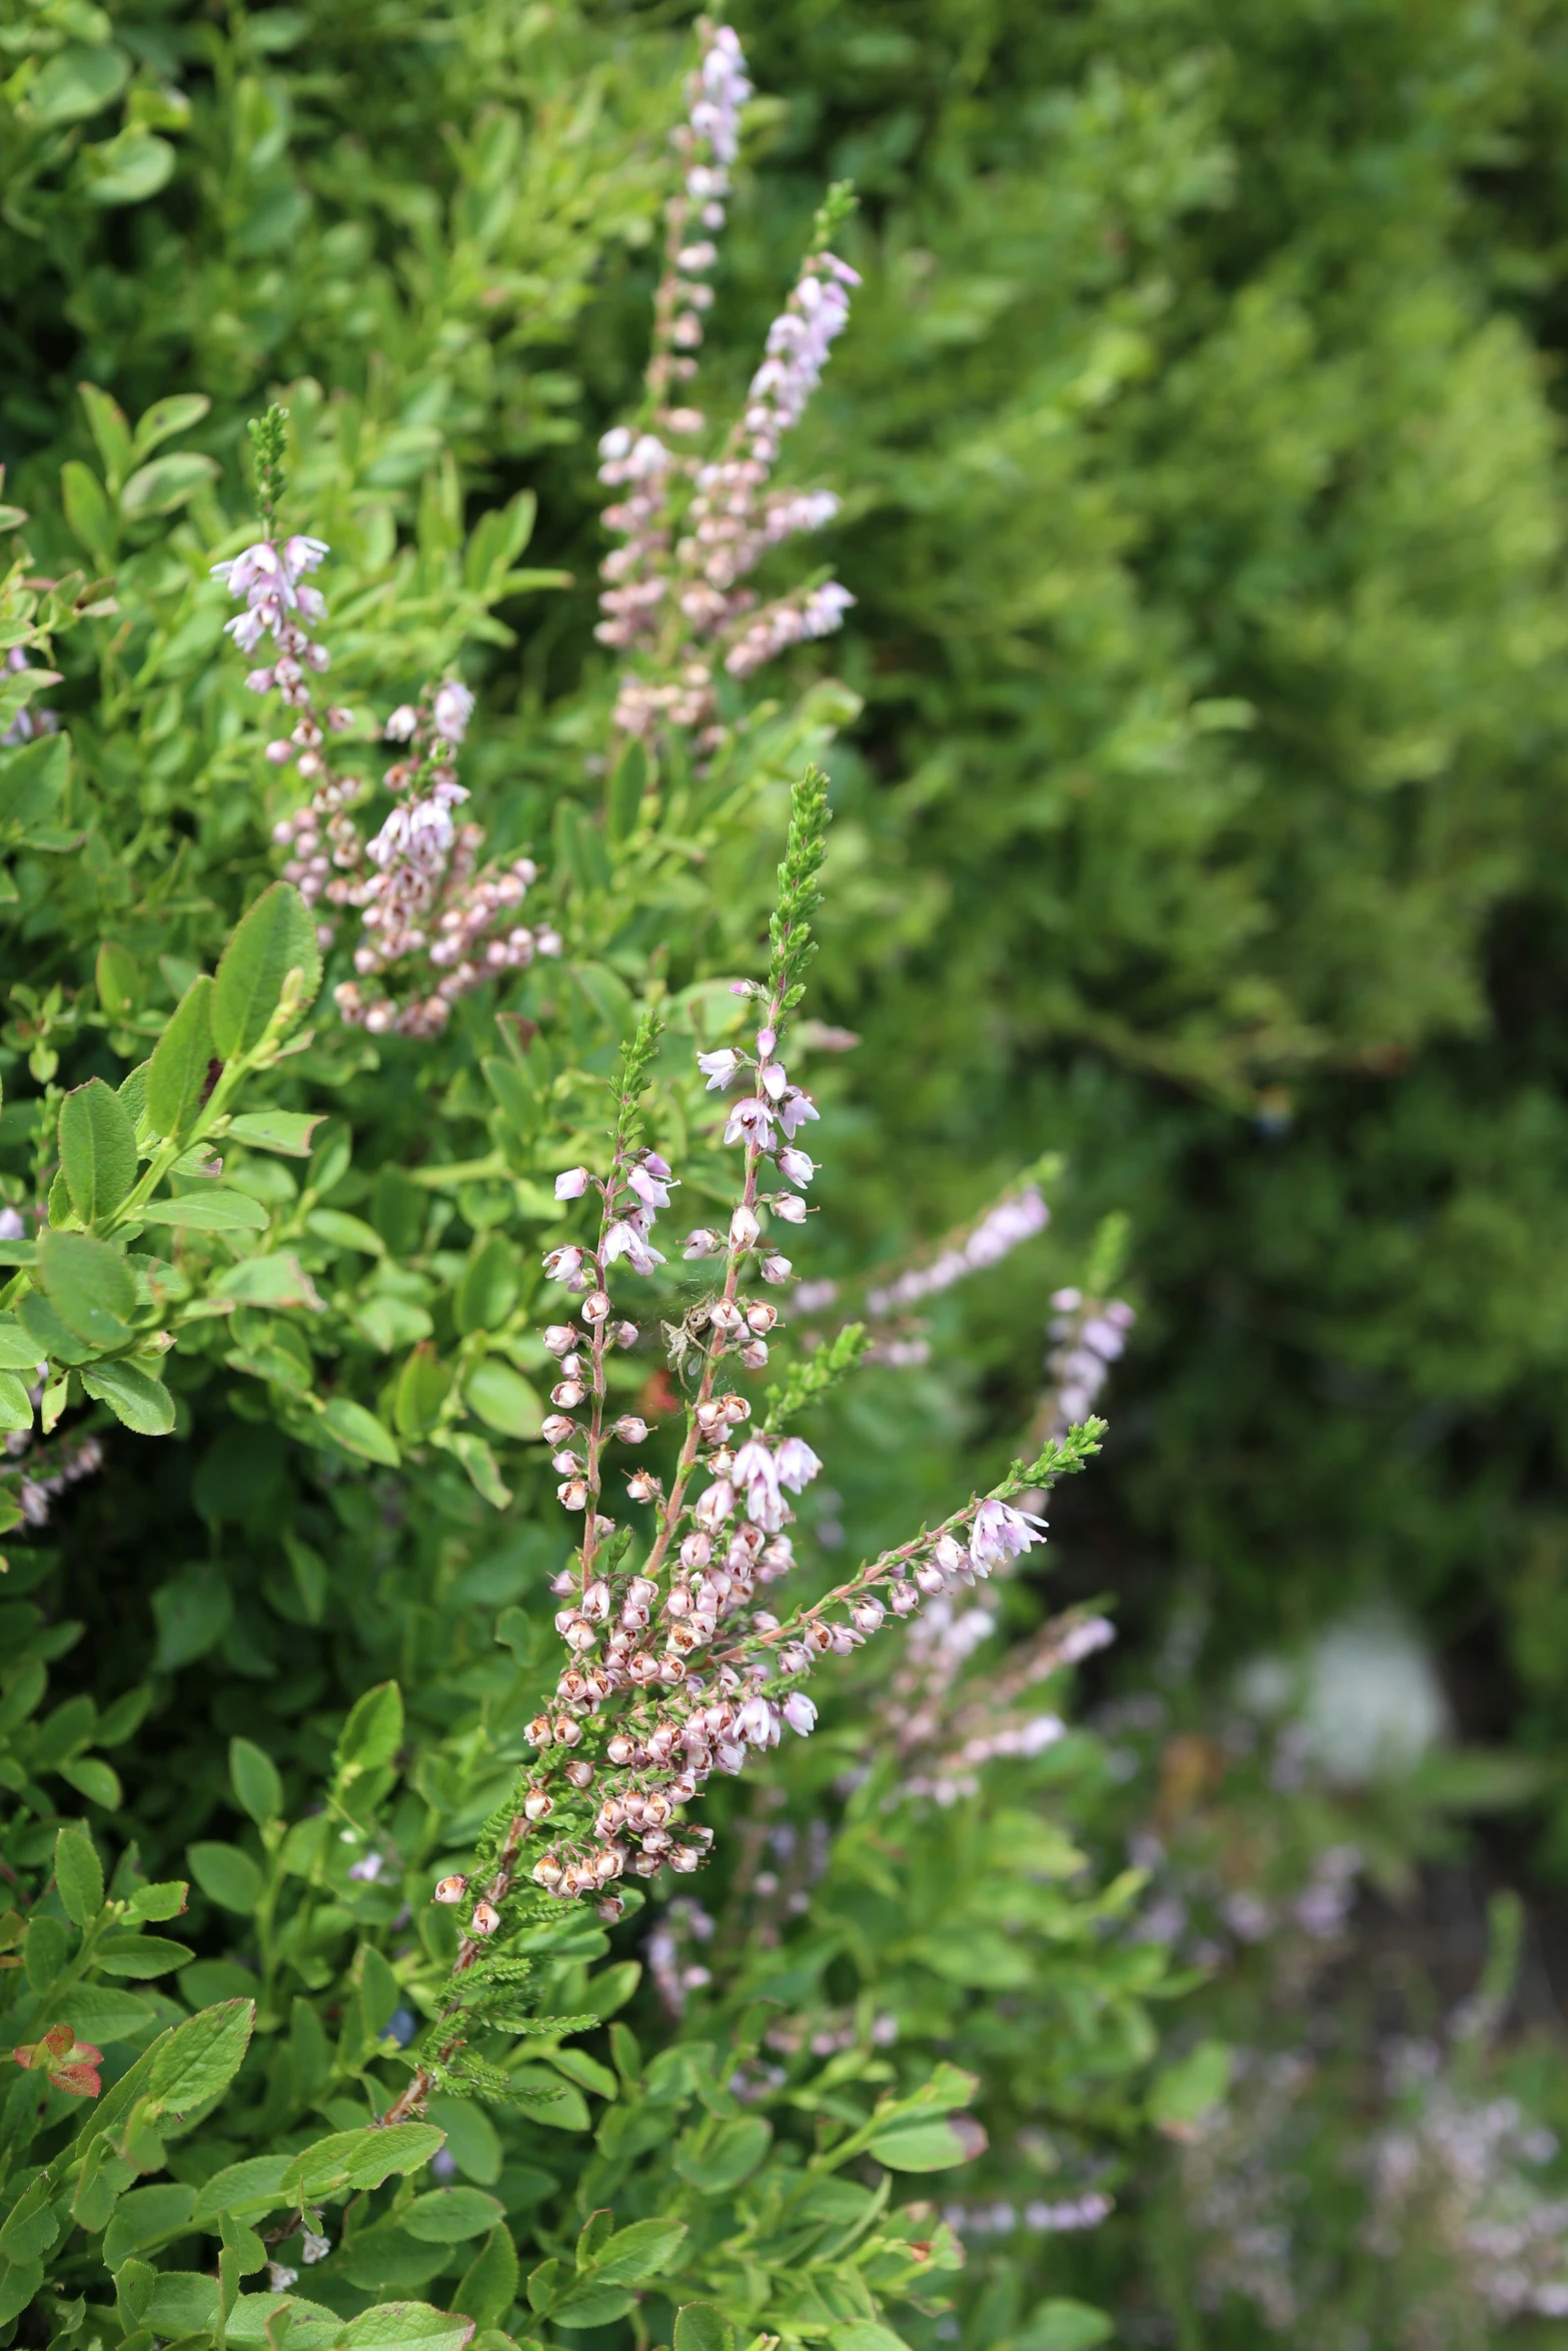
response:
M362 922L355 947L357 978L334 994L343 1020L374 1034L437 1037L458 997L505 971L522 971L536 955L559 955L550 929L520 922L529 886L538 879L531 858L480 870L484 828L461 823L468 799L456 776L456 757L473 715L473 694L456 679L425 686L418 703L404 703L386 722L386 738L407 745L388 766L383 788L393 811L369 839L353 809L367 797L360 776L339 776L327 738L346 734L350 710L317 710L313 672L329 668L327 647L310 637L310 623L327 614L324 597L306 581L327 555L320 538L261 538L230 562L214 564L244 611L228 621L242 651L254 654L273 637L275 654L244 679L254 694L280 694L294 712L287 736L268 743L273 766L294 766L310 799L273 825L273 839L289 851L284 882L306 905L355 907ZM334 924L320 924L322 947ZM395 997L386 973L400 971L407 992ZM364 987L362 983L378 983Z

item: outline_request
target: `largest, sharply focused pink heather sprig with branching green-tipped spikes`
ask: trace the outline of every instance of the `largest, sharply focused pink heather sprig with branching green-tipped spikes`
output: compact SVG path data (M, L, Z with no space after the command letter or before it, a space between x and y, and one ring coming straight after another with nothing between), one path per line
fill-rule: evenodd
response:
M625 1500L649 1514L642 1542L635 1523L618 1523L618 1509L604 1505L616 1451L635 1460L651 1434L639 1413L616 1413L609 1404L611 1354L639 1340L639 1324L611 1284L658 1277L668 1262L658 1220L677 1190L670 1161L644 1143L642 1128L658 1034L651 1016L623 1049L607 1168L564 1168L555 1183L562 1206L595 1206L592 1232L559 1241L543 1260L545 1277L571 1302L543 1333L559 1373L543 1434L559 1505L583 1533L555 1582L564 1660L552 1700L527 1730L536 1761L482 1871L473 1881L449 1874L435 1888L437 1902L465 1911L456 1977L482 1961L505 1925L508 1902L527 1909L538 1893L557 1902L592 1900L599 1916L616 1918L621 1878L701 1869L712 1829L696 1824L691 1808L705 1782L712 1773L741 1773L785 1730L799 1737L813 1730L806 1681L823 1657L849 1655L889 1620L912 1617L929 1601L1009 1568L1044 1533L1011 1495L1030 1476L1048 1474L1056 1455L1032 1472L1016 1467L1001 1491L973 1498L820 1599L788 1613L773 1599L771 1587L797 1563L795 1498L820 1472L818 1455L788 1422L853 1364L863 1338L851 1328L797 1364L764 1415L733 1385L733 1375L766 1364L778 1307L762 1293L792 1270L769 1227L806 1215L804 1192L816 1176L797 1138L818 1112L790 1077L783 1034L811 955L806 915L816 905L825 820L825 783L809 769L792 797L766 985L736 985L757 1004L757 1027L748 1044L698 1053L708 1091L722 1096L715 1124L741 1152L741 1180L726 1227L696 1227L682 1248L689 1265L715 1260L715 1279L679 1324L665 1324L672 1371L689 1392L679 1455L668 1476L642 1462L618 1472ZM665 1972L675 1970L675 1944L663 1961ZM458 2012L461 2003L449 2017ZM440 2031L458 2036L447 2045L461 2043L458 2022L437 2024ZM395 2116L416 2111L440 2078L442 2048L418 2064Z

